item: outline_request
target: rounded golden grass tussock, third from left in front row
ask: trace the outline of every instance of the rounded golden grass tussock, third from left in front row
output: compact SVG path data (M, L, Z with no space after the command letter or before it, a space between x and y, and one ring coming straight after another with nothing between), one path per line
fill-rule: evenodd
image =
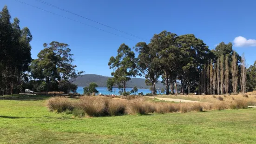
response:
M144 107L144 105L142 105L143 101L138 100L138 99L134 99L131 100L129 102L129 104L127 105L126 108L126 113L128 114L145 114L146 113L146 109Z

